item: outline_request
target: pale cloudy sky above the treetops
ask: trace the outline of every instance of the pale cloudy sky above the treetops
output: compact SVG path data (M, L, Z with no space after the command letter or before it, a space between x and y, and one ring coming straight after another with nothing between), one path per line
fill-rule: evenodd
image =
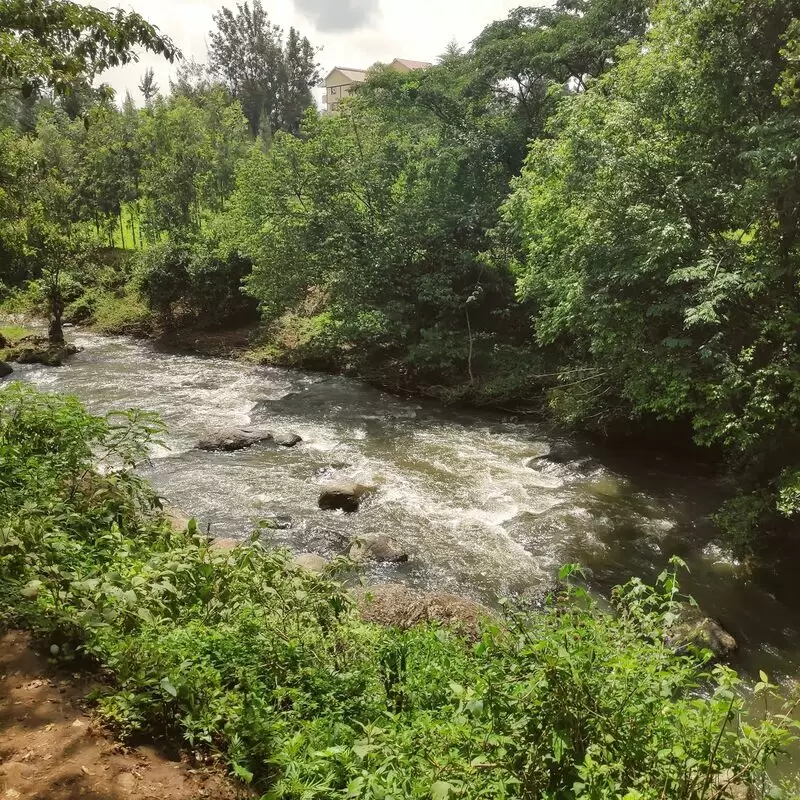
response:
M206 62L206 41L214 26L212 15L222 6L242 0L81 0L98 8L120 7L140 13L169 36L187 59ZM394 58L435 61L448 42L463 46L490 22L512 8L536 0L262 0L271 21L284 29L299 29L321 48L323 76L335 66L369 67ZM147 67L155 71L161 90L169 89L174 66L142 53L138 63L109 70L101 80L119 99L130 91L141 103L138 84Z

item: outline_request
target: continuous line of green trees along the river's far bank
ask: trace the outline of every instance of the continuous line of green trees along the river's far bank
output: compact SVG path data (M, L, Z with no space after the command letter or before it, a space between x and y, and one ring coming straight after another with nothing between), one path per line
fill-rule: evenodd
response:
M137 250L112 288L160 325L257 305L296 363L604 433L682 431L733 470L732 541L796 528L797 2L520 8L428 69L377 65L334 116L312 102L315 48L257 0L215 16L208 64L168 92L145 74L141 108L92 83L107 54L48 70L46 35L26 77L13 6L9 290L51 276L51 306L91 315L86 253ZM174 57L145 25L113 52ZM87 58L83 41L57 46Z

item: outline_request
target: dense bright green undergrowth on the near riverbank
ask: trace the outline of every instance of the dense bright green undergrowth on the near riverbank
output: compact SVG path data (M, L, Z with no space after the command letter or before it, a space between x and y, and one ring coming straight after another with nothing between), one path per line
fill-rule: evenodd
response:
M749 719L730 669L663 644L673 571L618 589L613 616L567 588L474 644L373 627L258 534L172 529L131 471L161 433L0 391L0 622L102 667L121 735L219 754L265 798L790 796L765 774L795 727L766 676Z

